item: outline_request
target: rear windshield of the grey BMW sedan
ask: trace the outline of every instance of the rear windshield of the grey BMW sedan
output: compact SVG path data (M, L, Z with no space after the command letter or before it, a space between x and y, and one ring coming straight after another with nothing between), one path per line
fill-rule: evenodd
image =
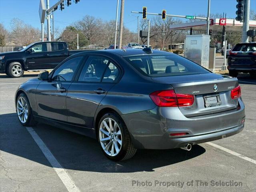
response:
M210 73L202 66L176 54L124 57L138 72L150 77Z

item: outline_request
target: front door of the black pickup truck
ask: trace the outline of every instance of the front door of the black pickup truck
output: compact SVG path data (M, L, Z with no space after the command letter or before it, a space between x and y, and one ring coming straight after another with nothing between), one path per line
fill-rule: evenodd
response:
M48 69L50 48L46 42L38 43L26 51L26 64L29 70Z

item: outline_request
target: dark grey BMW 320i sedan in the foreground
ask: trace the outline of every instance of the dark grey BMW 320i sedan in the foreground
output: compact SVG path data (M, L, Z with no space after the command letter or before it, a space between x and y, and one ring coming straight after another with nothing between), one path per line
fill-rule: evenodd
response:
M21 84L15 101L23 126L43 122L96 138L115 161L137 149L190 150L237 134L245 119L237 78L150 48L74 54Z

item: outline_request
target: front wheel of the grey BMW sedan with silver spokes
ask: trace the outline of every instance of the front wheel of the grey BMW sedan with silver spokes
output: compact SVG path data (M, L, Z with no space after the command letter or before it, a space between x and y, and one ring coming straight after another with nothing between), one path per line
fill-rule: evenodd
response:
M19 122L23 126L35 126L37 124L37 121L33 117L28 98L23 93L16 100L16 112Z

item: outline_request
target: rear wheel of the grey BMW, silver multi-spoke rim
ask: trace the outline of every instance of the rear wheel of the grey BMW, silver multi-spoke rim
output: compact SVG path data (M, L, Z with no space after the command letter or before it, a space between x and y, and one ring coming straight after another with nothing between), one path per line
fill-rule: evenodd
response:
M109 112L102 116L97 133L102 152L110 160L127 160L137 151L132 144L126 125L116 113Z

